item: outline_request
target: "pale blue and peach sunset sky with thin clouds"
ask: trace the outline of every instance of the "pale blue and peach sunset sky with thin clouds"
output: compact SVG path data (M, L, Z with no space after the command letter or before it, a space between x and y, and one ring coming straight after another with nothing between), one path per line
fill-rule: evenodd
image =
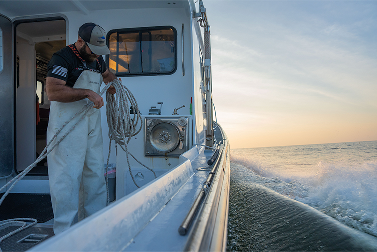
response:
M377 1L203 2L231 148L377 140Z

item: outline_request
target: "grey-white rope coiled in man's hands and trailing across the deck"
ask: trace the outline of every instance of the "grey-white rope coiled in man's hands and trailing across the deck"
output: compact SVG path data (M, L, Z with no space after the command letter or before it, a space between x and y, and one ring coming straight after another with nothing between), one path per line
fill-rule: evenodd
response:
M113 80L112 82L109 82L101 90L101 92L99 93L99 95L102 96L111 85L113 85L115 87L115 89L116 89L116 95L110 94L108 92L106 93L106 101L107 101L107 107L106 107L107 108L107 113L106 114L107 114L107 123L108 123L108 127L109 127L109 134L108 135L110 137L109 154L108 154L107 165L106 165L107 204L109 204L107 170L108 170L108 163L109 163L109 158L110 158L110 153L111 153L111 142L112 142L112 140L114 140L116 143L118 143L122 147L122 149L125 151L126 156L127 156L127 164L129 166L130 175L131 175L132 180L134 181L135 185L138 188L139 188L139 186L136 184L134 176L132 175L132 172L131 172L131 166L130 166L128 155L130 155L132 158L134 158L139 164L141 164L142 166L146 167L148 170L152 171L153 174L154 174L154 176L155 176L155 178L156 178L156 174L155 174L155 172L151 168L148 168L147 166L145 166L144 164L142 164L141 162L139 162L127 150L127 144L129 143L131 137L135 136L136 134L138 134L141 131L142 127L143 127L142 118L141 118L141 115L139 113L138 103L136 102L136 99L133 96L133 94L130 92L130 90L127 87L125 87L122 84L122 82L119 81L119 80ZM128 101L130 101L130 105L132 107L132 111L133 111L133 114L134 114L132 119L131 119L131 115L130 115L130 111L129 111L129 103L128 103ZM21 173L19 173L12 180L10 180L8 183L6 183L2 188L0 188L0 191L3 191L4 189L6 189L6 187L8 187L9 185L12 184L9 187L9 189L0 198L0 205L3 203L5 197L7 197L7 195L11 192L11 190L13 189L13 187L18 183L18 181L20 181L31 169L33 169L33 167L37 163L39 163L40 161L42 161L69 133L72 132L72 130L74 130L74 128L85 118L85 116L88 114L88 112L93 108L93 105L94 105L93 102L88 103L79 112L77 112L68 121L66 121L58 129L58 131L52 137L52 139L50 140L50 142L46 145L46 147L41 152L41 154L37 158L37 160L35 160L34 163L32 163L31 165L29 165L24 171L22 171ZM74 118L76 118L77 116L79 116L81 114L82 114L82 116L76 122L76 124L73 125L72 128L69 129L63 136L61 136L55 142L55 144L51 147L51 149L49 149L51 143L58 137L58 134L63 130L63 128L69 122L71 122ZM137 128L137 124L139 123L139 121L140 121L140 127L138 129ZM126 140L126 138L127 138L127 140ZM24 222L25 220L26 221L33 221L33 222L30 223L29 225L26 225L26 222ZM0 242L2 242L4 239L8 238L11 235L13 235L13 234L15 234L15 233L17 233L17 232L19 232L21 230L24 230L24 229L26 229L26 228L28 228L28 227L36 224L37 222L38 221L36 219L29 219L29 218L18 218L18 219L9 219L9 220L0 221L0 227L4 226L6 224L10 224L10 223L19 223L19 224L22 224L22 226L20 228L18 228L16 230L12 231L11 233L8 233L8 234L4 235L3 237L1 237L0 238ZM1 252L1 248L0 248L0 252Z

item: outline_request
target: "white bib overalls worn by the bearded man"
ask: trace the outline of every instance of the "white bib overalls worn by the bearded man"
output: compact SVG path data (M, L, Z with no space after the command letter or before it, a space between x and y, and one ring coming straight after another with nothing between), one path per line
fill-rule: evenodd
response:
M99 94L101 84L101 74L85 70L73 88L90 89ZM68 103L52 101L47 142L66 121L88 103L88 98ZM78 116L68 123L57 138L63 136L80 118L81 116ZM51 146L53 145L54 142ZM92 108L47 159L54 233L58 234L74 223L76 214L80 221L106 206L100 110Z

